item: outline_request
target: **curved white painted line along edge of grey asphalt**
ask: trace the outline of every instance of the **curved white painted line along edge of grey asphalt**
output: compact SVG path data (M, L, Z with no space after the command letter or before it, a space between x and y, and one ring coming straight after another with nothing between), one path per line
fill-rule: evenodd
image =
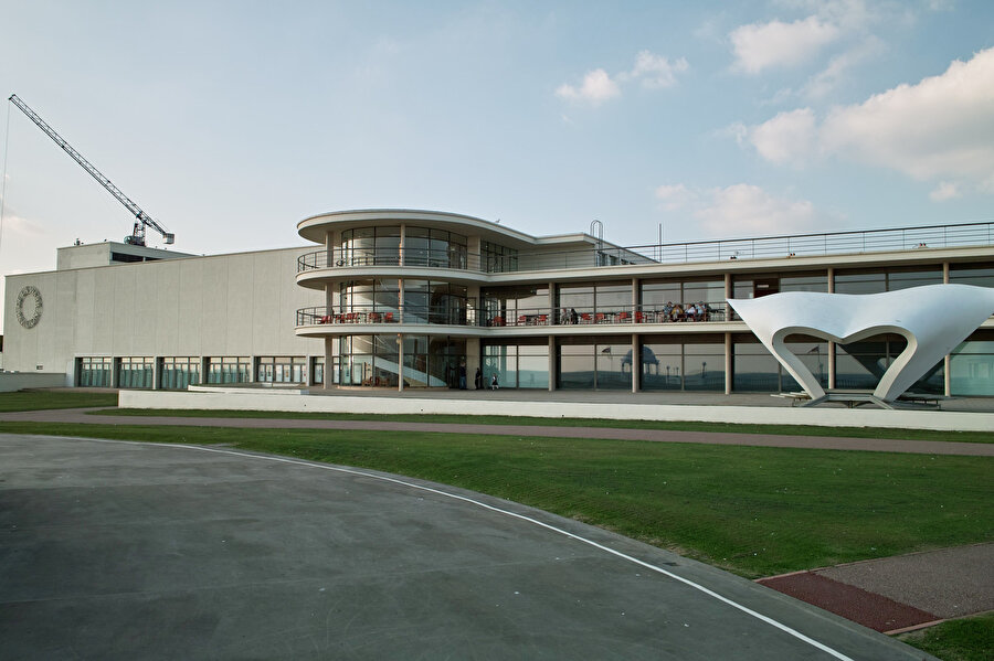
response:
M64 437L64 436L50 436L49 438L57 438L57 439L64 440L66 437ZM532 519L531 516L526 516L525 514L518 514L517 512L511 512L511 511L509 511L509 510L504 510L504 509L497 508L497 507L495 507L495 505L490 505L490 504L487 504L487 503L485 503L485 502L482 502L482 501L478 501L478 500L474 500L474 499L468 498L468 497L465 497L465 495L458 495L458 494L456 494L456 493L448 493L448 492L442 491L442 490L440 490L440 489L433 489L433 488L431 488L431 487L424 487L424 486L422 486L422 484L415 484L415 483L413 483L413 482L406 482L406 481L404 481L404 480L400 480L400 479L396 479L396 478L390 478L390 477L387 477L387 476L381 476L381 475L376 475L376 473L371 473L371 472L366 472L366 471L363 471L363 470L359 470L359 469L355 469L355 468L345 468L345 467L339 467L339 466L330 466L330 465L327 465L327 463L317 463L317 462L314 462L314 461L306 461L306 460L304 460L304 459L289 459L289 458L284 458L284 457L273 457L273 456L268 456L268 455L254 455L254 454L252 454L252 452L242 452L242 451L239 451L239 450L222 449L222 448L210 448L210 447L194 446L194 445L179 445L179 444L169 444L169 443L155 443L155 444L151 444L151 443L141 443L141 441L133 441L133 440L112 440L112 439L106 439L106 438L82 438L82 437L75 437L75 438L77 438L78 440L91 440L91 441L94 441L94 443L108 443L108 444L123 444L123 445L141 445L141 446L146 446L146 447L167 447L167 448L179 448L179 449L187 449L187 450L200 450L200 451L202 451L202 452L213 452L213 454L216 454L216 455L232 455L232 456L235 456L235 457L243 457L243 458L248 458L248 459L262 459L262 460L265 460L265 461L275 461L275 462L278 462L278 463L289 463L289 465L295 465L295 466L305 466L305 467L308 467L308 468L319 468L319 469L321 469L321 470L330 470L330 471L334 471L334 472L342 472L342 473L348 473L348 475L359 476L359 477L363 477L363 478L369 478L369 479L372 479L372 480L381 480L381 481L383 481L383 482L393 482L393 483L395 483L395 484L401 484L401 486L408 487L408 488L410 488L410 489L417 489L417 490L420 490L420 491L426 491L426 492L429 492L429 493L435 493L435 494L437 494L437 495L442 495L442 497L445 497L445 498L451 498L451 499L453 499L453 500L459 500L459 501L463 501L463 502L466 502L466 503L469 503L469 504L474 504L474 505L476 505L476 507L478 507L478 508L483 508L483 509L485 509L485 510L490 510L491 512L497 512L497 513L500 513L500 514L505 514L506 516L511 516L511 518L514 518L514 519L518 519L518 520L520 520L520 521L526 521L526 522L531 523L531 524L533 524L533 525L538 525L539 527L543 527L543 529L546 529L546 530L552 531L552 532L554 532L554 533L558 533L558 534L563 535L563 536L565 536L565 537L569 537L569 539L571 539L571 540L575 540L577 542L580 542L580 543L582 543L582 544L586 544L586 545L589 545L589 546L593 546L594 548L598 548L598 550L603 551L603 552L605 552L605 553L610 553L611 555L617 556L617 557L620 557L620 558L622 558L622 559L626 559L626 561L628 561L628 562L631 562L631 563L634 563L634 564L636 564L636 565L639 565L639 566L642 566L642 567L645 567L646 569L651 569L651 571L653 571L653 572L656 572L657 574L663 574L664 576L667 576L667 577L669 577L669 578L672 578L672 579L674 579L674 580L676 580L676 582L683 583L684 585L687 585L687 586L689 586L689 587L691 587L691 588L694 588L694 589L696 589L696 590L699 590L699 591L701 591L701 593L708 595L709 597L712 597L712 598L715 598L715 599L721 601L722 604L726 604L726 605L728 605L728 606L731 606L732 608L737 608L737 609L741 610L742 612L744 612L744 614L747 614L747 615L749 615L749 616L752 616L752 617L754 617L755 619L758 619L758 620L760 620L760 621L766 622L766 623L770 625L771 627L775 627L776 629L780 629L781 631L783 631L783 632L785 632L785 633L787 633L787 635L790 635L790 636L793 636L794 638L796 638L796 639L799 639L799 640L802 640L802 641L806 642L807 644L811 644L812 647L815 647L815 648L822 650L823 652L825 652L825 653L827 653L827 654L831 654L832 657L834 657L834 658L836 658L836 659L839 659L839 661L854 661L854 659L853 659L852 657L847 657L846 654L843 654L843 653L839 652L838 650L834 650L834 649L829 648L828 646L823 644L823 643L818 642L817 640L814 640L813 638L810 638L810 637L805 636L804 633L801 633L801 632L797 631L796 629L792 629L791 627L787 627L786 625L784 625L784 623L782 623L782 622L779 622L779 621L774 620L773 618L766 617L765 615L763 615L763 614L761 614L761 612L757 612L755 610L752 610L751 608L749 608L749 607L747 607L747 606L742 606L742 605L739 604L738 601L733 601L733 600L729 599L728 597L723 597L723 596L719 595L718 593L716 593L716 591L713 591L713 590L711 590L711 589L709 589L709 588L706 588L705 586L702 586L702 585L700 585L700 584L698 584L698 583L694 583L692 580L690 580L690 579L688 579L688 578L684 578L683 576L678 576L678 575L674 574L673 572L667 572L667 571L664 569L663 567L653 565L653 564L651 564L651 563L646 563L646 562L644 562L644 561L638 559L637 557L633 557L633 556L627 555L627 554L625 554L625 553L622 553L622 552L620 552L620 551L615 551L614 548L611 548L611 547L609 547L609 546L604 546L603 544L599 544L598 542L594 542L593 540L588 540L586 537L581 537L580 535L577 535L577 534L574 534L574 533L571 533L571 532L569 532L569 531L565 531L565 530L563 530L563 529L561 529L561 527L556 527L554 525L551 525L551 524L549 524L549 523L544 523L544 522L542 522L542 521L539 521L538 519Z

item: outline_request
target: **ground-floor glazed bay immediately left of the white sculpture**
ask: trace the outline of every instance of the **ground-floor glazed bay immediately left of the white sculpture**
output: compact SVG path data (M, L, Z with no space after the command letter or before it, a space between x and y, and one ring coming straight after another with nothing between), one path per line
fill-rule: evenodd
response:
M644 391L725 392L723 337L647 335L641 362Z

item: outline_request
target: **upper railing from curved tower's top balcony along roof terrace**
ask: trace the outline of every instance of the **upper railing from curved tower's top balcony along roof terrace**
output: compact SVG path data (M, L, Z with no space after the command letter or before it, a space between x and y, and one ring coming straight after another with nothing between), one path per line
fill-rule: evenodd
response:
M297 259L297 273L325 268L415 266L476 273L526 273L620 266L628 264L685 264L729 259L845 255L994 245L994 222L929 225L864 232L794 234L760 238L718 239L616 247L591 246L581 250L519 252L516 255L480 255L461 249L349 248L316 250Z

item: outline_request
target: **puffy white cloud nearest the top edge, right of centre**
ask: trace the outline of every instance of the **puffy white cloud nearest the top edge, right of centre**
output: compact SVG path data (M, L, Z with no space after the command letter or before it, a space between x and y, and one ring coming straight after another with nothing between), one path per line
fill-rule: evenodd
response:
M758 74L772 66L803 64L839 34L835 24L811 15L792 23L770 21L741 25L728 36L736 53L733 68Z

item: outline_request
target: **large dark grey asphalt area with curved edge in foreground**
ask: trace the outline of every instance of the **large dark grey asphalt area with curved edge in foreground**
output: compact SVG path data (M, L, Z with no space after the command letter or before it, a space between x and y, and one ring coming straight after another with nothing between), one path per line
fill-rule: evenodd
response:
M228 448L0 434L18 659L923 659L515 503Z

